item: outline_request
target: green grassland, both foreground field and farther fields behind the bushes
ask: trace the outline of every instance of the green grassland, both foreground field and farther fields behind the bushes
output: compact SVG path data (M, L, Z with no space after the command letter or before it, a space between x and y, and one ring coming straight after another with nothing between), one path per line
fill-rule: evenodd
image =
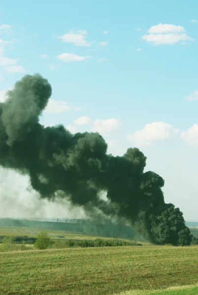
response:
M77 244L97 238L114 240L115 230L19 222L18 226L1 224L0 236L35 238L42 230L54 244L48 250L14 244L8 250L11 252L2 252L0 244L0 295L198 295L198 246L140 242L139 247L132 238L124 238L132 246L66 248L68 239L79 240ZM24 226L27 224L30 226ZM72 232L74 228L80 231ZM191 231L198 235L198 229ZM128 237L128 229L125 233Z

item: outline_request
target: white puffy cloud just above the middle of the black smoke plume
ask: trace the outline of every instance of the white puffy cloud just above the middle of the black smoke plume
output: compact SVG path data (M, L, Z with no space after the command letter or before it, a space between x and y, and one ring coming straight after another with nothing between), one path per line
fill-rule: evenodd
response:
M106 120L96 119L93 123L92 131L99 133L110 133L122 127L119 119L111 118Z

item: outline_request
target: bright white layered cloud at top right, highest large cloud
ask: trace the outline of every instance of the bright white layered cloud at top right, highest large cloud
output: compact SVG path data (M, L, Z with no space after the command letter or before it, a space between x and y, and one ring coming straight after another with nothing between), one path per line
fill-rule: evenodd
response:
M158 24L157 26L152 26L148 30L148 34L143 35L142 38L147 42L154 43L154 45L184 44L184 41L187 40L194 41L194 38L185 33L184 27L170 24Z

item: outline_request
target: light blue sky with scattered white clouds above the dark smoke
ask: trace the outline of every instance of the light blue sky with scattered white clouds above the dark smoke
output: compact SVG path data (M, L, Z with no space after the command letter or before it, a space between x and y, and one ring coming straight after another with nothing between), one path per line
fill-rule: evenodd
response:
M197 0L1 2L0 100L39 72L53 88L42 123L99 131L115 155L140 148L165 201L198 220L197 11Z

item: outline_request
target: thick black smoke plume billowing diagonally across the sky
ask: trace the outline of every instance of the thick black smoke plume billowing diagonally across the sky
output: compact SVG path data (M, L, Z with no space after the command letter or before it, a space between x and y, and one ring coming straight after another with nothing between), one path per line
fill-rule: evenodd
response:
M26 75L8 92L0 105L0 165L29 175L41 198L58 194L85 210L124 217L152 242L189 245L182 212L165 204L164 179L144 173L146 157L138 148L114 157L99 133L72 135L62 125L39 123L51 93L38 74ZM99 197L102 192L107 201Z

